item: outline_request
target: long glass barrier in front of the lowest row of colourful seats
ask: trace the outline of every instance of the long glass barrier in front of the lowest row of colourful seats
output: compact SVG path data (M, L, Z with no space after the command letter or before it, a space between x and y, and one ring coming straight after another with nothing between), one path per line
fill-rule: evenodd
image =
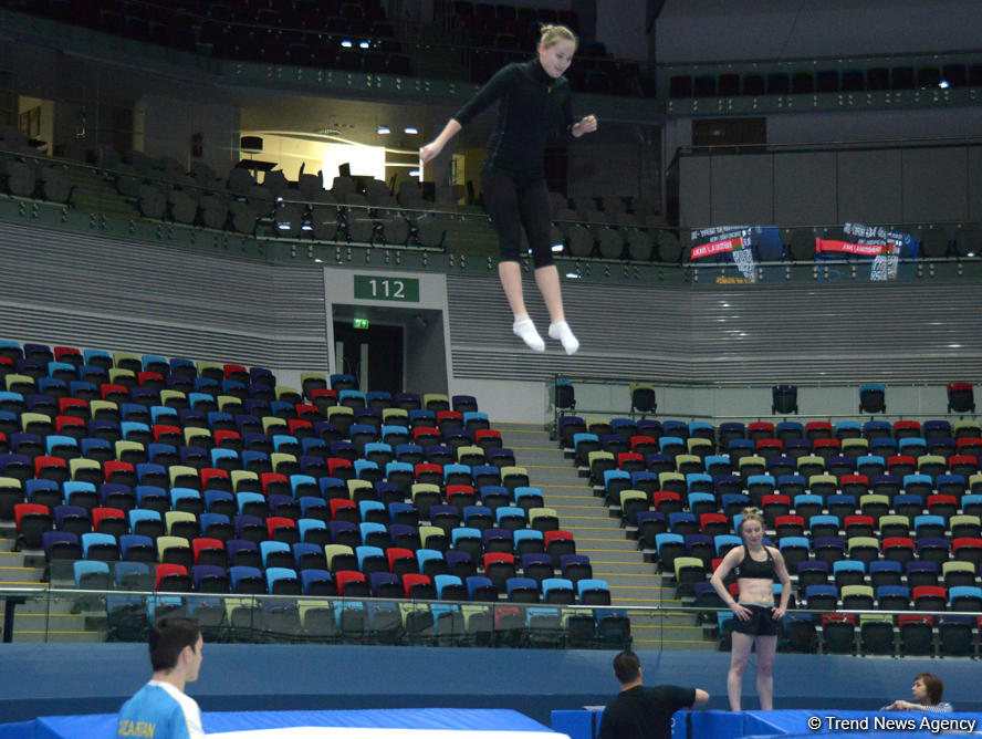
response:
M729 650L733 614L729 608L693 606L691 589L688 593L683 596L686 605L584 607L52 586L0 589L0 602L13 624L12 633L4 628L6 642L145 642L155 620L187 615L199 621L206 642L227 644ZM978 603L962 605L961 610L937 610L937 603L916 605L915 610L871 605L791 608L779 634L779 650L976 654L982 624ZM77 620L83 627L66 628L61 623L66 617ZM6 627L11 623L8 620Z

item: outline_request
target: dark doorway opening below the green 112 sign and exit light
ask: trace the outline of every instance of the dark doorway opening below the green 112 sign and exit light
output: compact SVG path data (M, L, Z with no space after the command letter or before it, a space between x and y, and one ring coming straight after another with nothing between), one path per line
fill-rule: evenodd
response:
M337 372L357 377L365 392L403 392L403 326L355 329L351 322L334 322Z

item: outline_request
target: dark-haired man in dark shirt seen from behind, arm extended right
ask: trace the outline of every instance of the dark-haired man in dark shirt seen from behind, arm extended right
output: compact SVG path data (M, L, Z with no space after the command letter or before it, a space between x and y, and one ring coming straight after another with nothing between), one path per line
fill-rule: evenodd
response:
M604 709L598 739L670 739L672 714L709 700L709 694L699 688L645 687L641 663L633 652L614 657L614 675L620 695Z

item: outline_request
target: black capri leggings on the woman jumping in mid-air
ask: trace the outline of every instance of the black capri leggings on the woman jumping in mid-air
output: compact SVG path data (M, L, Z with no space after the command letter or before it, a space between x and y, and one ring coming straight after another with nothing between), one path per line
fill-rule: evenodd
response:
M481 190L484 210L498 232L501 261L519 261L524 226L535 268L552 264L549 190L542 175L522 177L498 169L484 169L481 171Z

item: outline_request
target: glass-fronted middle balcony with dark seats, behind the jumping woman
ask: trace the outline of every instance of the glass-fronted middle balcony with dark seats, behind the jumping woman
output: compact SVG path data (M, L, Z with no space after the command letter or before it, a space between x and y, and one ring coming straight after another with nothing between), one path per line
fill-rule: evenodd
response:
M470 273L497 269L497 238L478 207L421 200L406 207L388 192L372 200L362 194L339 197L320 181L301 192L282 175L274 185L260 181L248 169L236 169L241 176L224 180L205 167L182 174L167 158L139 155L132 163L117 155L105 158L94 166L30 150L0 150L0 167L7 174L0 218L208 253L231 251L264 261L355 266L382 258L410 269ZM739 227L766 232L767 239L751 237L750 248L739 254L734 249L690 261L701 243L693 241L696 232L690 229L647 226L633 214L608 219L597 211L588 220L573 216L562 214L553 230L553 250L567 279L714 288L974 279L982 266L982 223L974 222L889 225L885 227L889 232L921 237L926 246L919 258L896 258L878 267L884 260L863 254L815 253L816 238L832 243L848 238L842 226Z

